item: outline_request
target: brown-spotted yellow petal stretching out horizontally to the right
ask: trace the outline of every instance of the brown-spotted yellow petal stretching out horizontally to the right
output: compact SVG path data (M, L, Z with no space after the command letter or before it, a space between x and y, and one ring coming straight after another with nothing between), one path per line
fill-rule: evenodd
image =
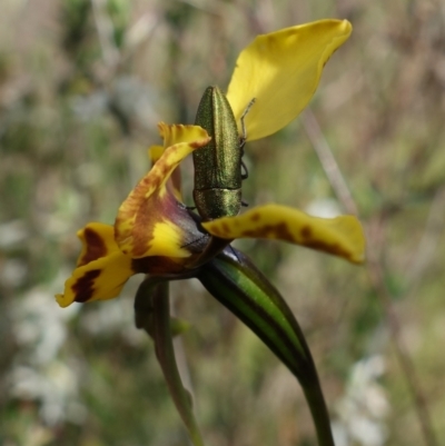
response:
M286 206L265 205L202 226L212 236L225 239L271 238L344 257L354 264L365 259L365 236L353 216L319 218Z

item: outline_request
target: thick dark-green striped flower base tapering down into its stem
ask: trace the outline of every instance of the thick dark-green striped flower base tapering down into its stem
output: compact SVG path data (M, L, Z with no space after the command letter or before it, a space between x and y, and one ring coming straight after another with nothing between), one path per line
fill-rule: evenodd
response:
M284 298L240 251L227 247L197 278L289 368L303 387L319 446L334 446L329 415L306 339Z

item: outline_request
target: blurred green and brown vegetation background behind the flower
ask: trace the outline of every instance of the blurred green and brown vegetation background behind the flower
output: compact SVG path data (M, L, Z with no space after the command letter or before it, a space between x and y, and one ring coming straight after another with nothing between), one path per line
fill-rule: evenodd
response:
M322 18L346 18L354 33L310 109L247 145L244 197L357 211L368 262L238 247L307 336L337 446L444 444L443 1L2 0L1 445L187 444L151 340L134 326L141 277L107 303L60 309L53 295L76 264L76 231L112 224L148 169L157 122L191 123L204 89L227 87L256 34ZM188 160L188 192L191 172ZM199 283L172 291L191 323L177 353L207 444L316 445L290 373Z

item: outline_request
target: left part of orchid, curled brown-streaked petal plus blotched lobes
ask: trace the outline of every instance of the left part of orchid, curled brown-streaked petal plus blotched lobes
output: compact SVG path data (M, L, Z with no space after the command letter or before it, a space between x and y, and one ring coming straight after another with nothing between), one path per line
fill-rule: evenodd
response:
M196 126L161 122L159 130L166 149L160 157L158 147L150 151L156 162L119 208L115 227L91 222L78 231L82 250L65 293L56 296L61 307L117 297L138 272L178 275L186 259L204 250L209 236L176 198L172 175L185 157L210 138Z

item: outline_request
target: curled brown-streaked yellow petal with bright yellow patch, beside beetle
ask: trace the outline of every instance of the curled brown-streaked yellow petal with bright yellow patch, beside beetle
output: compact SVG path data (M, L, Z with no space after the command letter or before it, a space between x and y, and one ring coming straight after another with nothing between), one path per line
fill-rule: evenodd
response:
M202 237L190 230L196 224L167 182L179 162L210 138L197 126L161 123L159 129L170 146L122 202L115 222L116 241L132 258L186 258L191 254L184 247Z

